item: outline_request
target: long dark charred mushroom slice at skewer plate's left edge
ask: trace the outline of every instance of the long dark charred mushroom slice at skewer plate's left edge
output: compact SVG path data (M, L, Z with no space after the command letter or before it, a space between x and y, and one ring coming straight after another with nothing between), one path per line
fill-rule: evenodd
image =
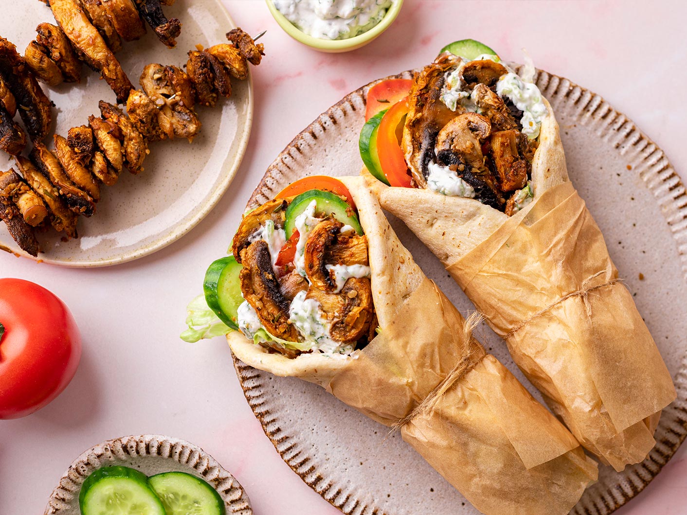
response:
M19 115L24 121L31 139L39 140L47 134L52 113L50 101L38 86L36 77L17 53L16 47L0 37L0 75L7 83L17 104L21 106Z

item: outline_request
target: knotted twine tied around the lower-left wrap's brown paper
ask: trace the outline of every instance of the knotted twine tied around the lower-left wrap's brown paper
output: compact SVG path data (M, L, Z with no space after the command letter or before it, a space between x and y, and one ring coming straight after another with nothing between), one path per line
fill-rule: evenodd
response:
M398 422L392 426L387 436L390 436L395 431L398 431L398 429L401 429L401 427L405 426L405 424L416 418L416 416L425 413L425 411L429 411L429 409L431 409L440 396L446 393L456 381L460 381L460 379L470 372L470 370L475 368L477 363L482 361L482 358L486 356L486 351L482 345L480 345L480 342L477 342L475 337L473 337L473 330L480 325L482 320L484 320L484 315L478 313L477 311L472 313L467 320L465 320L463 325L463 341L467 342L466 346L468 348L468 352L460 357L447 376L444 377L444 379L438 385L436 385L433 390L429 392L429 394L427 394L427 396L415 407L415 409L413 409L413 411L401 418L401 420L398 420Z

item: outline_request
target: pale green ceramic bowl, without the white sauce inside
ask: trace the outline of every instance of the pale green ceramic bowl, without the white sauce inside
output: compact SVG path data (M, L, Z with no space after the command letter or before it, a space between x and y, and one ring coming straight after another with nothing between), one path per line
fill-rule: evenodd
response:
M279 23L279 26L284 29L286 34L289 34L289 36L291 36L293 39L300 41L300 43L308 45L308 47L313 47L315 50L323 52L347 52L349 50L355 50L357 48L364 47L374 38L379 36L379 34L384 32L389 25L393 23L393 21L396 19L396 16L398 16L398 12L401 10L401 6L403 5L403 0L394 0L394 3L392 3L392 6L389 8L382 21L377 23L377 25L374 25L374 27L368 30L368 32L363 32L363 34L355 36L354 38L328 40L313 38L313 36L310 34L306 34L300 29L297 29L293 23L287 20L284 15L279 12L277 8L275 8L273 1L266 1L269 12L272 13L272 16L274 16L274 19L277 21L277 23Z

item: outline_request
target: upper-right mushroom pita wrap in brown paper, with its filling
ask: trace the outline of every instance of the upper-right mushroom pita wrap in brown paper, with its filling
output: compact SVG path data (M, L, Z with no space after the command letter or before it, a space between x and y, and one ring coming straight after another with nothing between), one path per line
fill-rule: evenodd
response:
M409 81L407 97L386 105L376 160L363 129L361 154L379 180L363 173L579 442L616 470L641 462L675 388L568 178L534 68L517 75L473 40L447 49Z

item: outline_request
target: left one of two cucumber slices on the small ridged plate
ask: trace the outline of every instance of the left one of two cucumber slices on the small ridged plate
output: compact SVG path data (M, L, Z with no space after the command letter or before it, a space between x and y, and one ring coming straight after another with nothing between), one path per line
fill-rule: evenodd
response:
M166 515L146 475L122 466L89 475L79 492L79 508L82 515Z

